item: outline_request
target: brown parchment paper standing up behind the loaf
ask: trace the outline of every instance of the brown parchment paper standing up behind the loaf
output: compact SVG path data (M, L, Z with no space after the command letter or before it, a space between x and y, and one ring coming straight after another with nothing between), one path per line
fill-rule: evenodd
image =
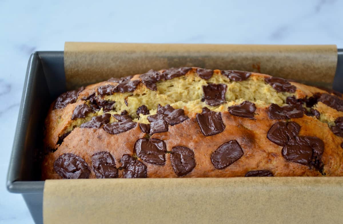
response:
M196 66L255 71L330 88L335 45L232 45L66 42L67 88L150 69Z

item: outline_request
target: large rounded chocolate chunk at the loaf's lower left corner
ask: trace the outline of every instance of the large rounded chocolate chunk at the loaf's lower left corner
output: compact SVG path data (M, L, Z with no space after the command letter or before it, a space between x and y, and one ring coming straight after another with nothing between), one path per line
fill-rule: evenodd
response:
M84 159L72 153L60 155L54 162L54 170L64 179L86 179L91 174Z

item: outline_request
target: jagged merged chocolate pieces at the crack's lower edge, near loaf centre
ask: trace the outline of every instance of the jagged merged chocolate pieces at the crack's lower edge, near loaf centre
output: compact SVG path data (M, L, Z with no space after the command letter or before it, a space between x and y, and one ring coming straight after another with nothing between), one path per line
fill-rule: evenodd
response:
M173 126L187 119L183 109L174 109L169 104L164 107L158 104L157 114L147 117L151 134L168 131L168 124Z

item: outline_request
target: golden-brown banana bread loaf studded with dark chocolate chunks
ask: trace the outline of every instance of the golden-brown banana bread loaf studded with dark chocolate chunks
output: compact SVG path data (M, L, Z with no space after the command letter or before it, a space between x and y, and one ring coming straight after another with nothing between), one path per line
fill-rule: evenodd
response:
M341 94L269 75L170 68L60 95L42 179L341 176Z

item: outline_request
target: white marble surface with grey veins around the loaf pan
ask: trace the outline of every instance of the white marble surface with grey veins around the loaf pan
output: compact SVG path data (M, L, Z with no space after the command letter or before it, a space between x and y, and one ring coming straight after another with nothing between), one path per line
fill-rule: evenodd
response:
M126 2L126 3L124 3ZM337 44L343 1L0 0L0 223L33 223L5 189L29 55L64 41Z

